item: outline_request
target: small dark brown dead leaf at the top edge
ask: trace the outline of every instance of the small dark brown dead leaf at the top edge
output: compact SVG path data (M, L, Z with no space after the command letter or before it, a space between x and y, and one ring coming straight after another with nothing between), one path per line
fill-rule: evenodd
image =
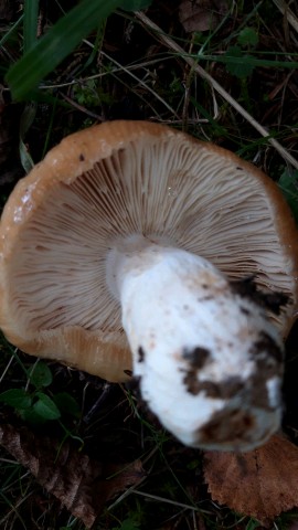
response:
M188 33L210 31L216 28L227 10L225 0L182 0L179 20Z

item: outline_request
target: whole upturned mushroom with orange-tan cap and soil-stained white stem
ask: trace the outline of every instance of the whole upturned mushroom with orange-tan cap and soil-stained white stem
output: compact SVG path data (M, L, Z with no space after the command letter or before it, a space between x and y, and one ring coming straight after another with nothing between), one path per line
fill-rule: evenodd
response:
M297 232L252 165L161 125L102 124L17 184L0 241L13 344L109 381L132 367L191 446L247 451L278 428ZM252 276L264 299L285 295L278 316Z

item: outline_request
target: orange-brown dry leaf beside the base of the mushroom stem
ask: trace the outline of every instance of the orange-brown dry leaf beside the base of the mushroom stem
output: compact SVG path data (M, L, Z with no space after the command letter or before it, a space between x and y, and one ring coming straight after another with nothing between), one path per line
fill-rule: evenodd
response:
M281 436L249 453L206 452L212 499L267 526L298 506L298 447Z

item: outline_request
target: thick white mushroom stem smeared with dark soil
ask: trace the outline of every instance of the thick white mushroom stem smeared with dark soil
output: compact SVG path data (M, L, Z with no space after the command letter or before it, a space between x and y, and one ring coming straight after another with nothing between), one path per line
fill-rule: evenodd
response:
M181 442L249 451L278 428L280 339L211 263L135 236L110 251L107 280L142 398Z

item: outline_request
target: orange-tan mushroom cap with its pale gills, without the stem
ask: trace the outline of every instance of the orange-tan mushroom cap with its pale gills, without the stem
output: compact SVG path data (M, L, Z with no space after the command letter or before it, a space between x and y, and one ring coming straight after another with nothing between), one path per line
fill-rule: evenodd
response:
M115 239L159 236L232 279L252 274L297 306L298 239L277 186L214 145L145 121L65 138L9 198L0 225L0 327L33 356L100 375L131 369L120 308L106 285Z

